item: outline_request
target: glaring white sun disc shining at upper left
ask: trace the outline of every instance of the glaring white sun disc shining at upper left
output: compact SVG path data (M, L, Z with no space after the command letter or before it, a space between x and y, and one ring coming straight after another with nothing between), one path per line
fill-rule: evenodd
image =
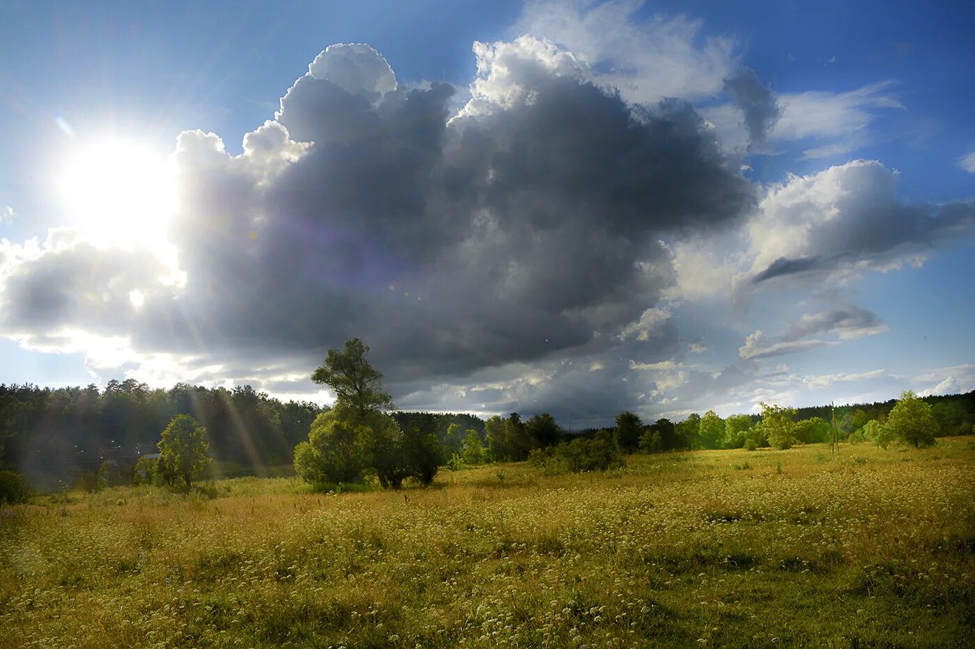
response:
M166 239L176 209L172 161L147 146L100 140L75 150L59 173L59 193L74 224L100 242Z

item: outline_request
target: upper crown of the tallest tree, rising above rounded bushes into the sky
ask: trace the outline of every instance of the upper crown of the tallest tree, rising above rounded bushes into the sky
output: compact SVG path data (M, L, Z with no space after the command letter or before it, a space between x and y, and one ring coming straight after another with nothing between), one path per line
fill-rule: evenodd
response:
M382 387L382 374L368 361L369 346L359 338L345 342L345 350L330 349L325 363L311 380L327 385L335 393L336 404L346 405L360 417L373 411L393 408L393 399Z

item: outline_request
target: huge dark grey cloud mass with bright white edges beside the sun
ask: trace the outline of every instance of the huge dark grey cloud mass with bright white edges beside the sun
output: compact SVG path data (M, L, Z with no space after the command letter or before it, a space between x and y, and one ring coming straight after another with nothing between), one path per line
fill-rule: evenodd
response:
M242 372L241 359L307 371L359 336L405 389L604 354L674 284L659 239L722 227L755 203L682 100L633 106L574 76L512 64L524 100L451 120L451 87L398 87L365 47L318 57L241 156L213 134L180 135L172 240L185 284L176 296L143 288L144 305L118 327L134 347ZM341 73L329 78L331 69ZM8 281L14 321L68 313L55 303L64 278L77 286L60 292L99 286L112 299L153 285L130 283L125 264L93 271L80 257L48 269L56 258L26 262ZM74 325L92 325L71 313ZM572 377L559 382L574 386L567 394L592 390L588 370Z

